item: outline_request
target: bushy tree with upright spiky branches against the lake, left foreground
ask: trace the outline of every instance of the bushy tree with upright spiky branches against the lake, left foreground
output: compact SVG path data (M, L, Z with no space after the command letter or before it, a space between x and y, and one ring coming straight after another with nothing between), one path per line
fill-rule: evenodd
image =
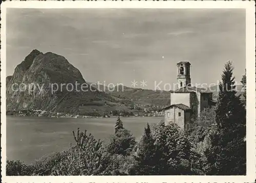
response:
M87 131L73 131L75 145L63 152L61 161L51 170L51 175L110 175L110 156L104 152L102 141Z

